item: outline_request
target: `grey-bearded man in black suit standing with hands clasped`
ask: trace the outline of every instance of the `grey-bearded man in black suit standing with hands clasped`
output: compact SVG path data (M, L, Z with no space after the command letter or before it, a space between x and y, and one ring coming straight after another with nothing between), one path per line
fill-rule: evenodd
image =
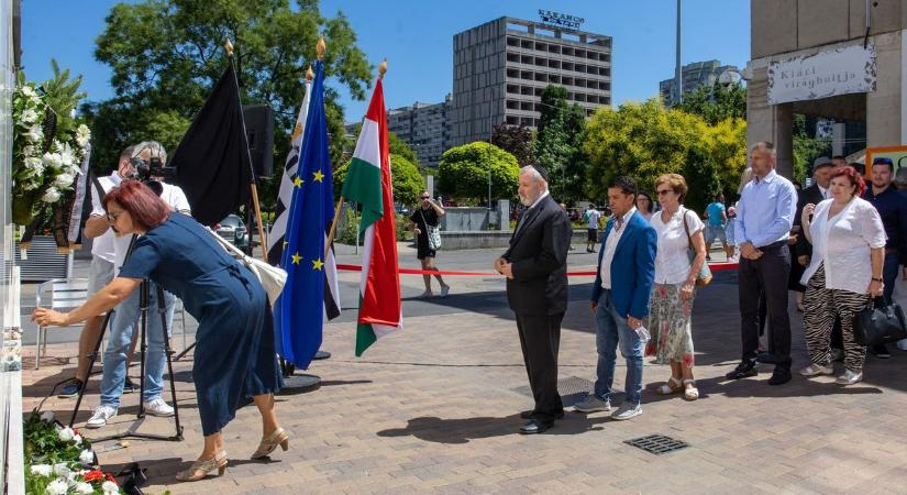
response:
M561 320L567 310L567 250L572 229L567 213L547 191L547 173L540 166L520 170L520 217L510 248L495 261L507 277L507 301L517 317L517 330L529 386L535 399L523 411L526 435L541 433L564 416L557 393L557 349Z

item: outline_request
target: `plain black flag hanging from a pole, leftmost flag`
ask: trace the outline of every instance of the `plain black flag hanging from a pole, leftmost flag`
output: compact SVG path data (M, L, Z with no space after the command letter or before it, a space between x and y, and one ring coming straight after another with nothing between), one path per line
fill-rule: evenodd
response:
M230 64L170 158L192 217L204 226L248 202L252 158L239 91Z

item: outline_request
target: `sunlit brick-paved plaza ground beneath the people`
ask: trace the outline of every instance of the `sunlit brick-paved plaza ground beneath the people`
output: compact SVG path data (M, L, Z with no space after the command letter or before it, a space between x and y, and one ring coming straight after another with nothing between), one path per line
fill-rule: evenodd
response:
M400 245L402 266L414 252ZM499 250L442 252L442 270L489 271ZM596 255L577 245L571 268L594 267ZM357 263L352 248L341 263ZM132 461L147 469L148 493L905 493L907 491L907 352L869 358L865 381L841 387L833 377L795 375L766 384L727 382L739 359L735 274L721 272L703 288L694 312L696 376L701 397L655 395L666 365L646 359L643 414L623 422L607 414L568 411L551 430L520 436L519 413L532 406L512 314L499 277L449 277L447 298L419 300L421 277L402 276L403 330L354 356L358 274L342 272L344 314L325 326L323 350L333 356L309 372L320 389L278 397L278 416L291 432L290 449L250 461L261 438L254 407L224 430L226 474L198 483L174 475L201 450L191 364L175 363L182 442L131 440L126 448L99 442L106 470ZM560 376L565 403L582 398L595 376L595 329L588 310L590 277L571 280L571 305L561 338ZM23 289L24 292L24 289ZM790 298L795 370L807 364L800 314ZM23 302L26 305L27 302ZM31 310L24 308L23 310ZM189 342L191 327L189 324ZM38 371L33 330L23 359L24 407L31 410L58 381L71 376L75 344L48 346ZM76 332L71 332L75 336ZM71 336L68 340L71 340ZM177 350L181 340L177 334ZM839 364L840 366L840 364ZM626 367L618 359L617 387ZM839 367L840 371L840 367ZM130 373L139 375L137 366ZM92 377L77 426L98 404ZM169 402L169 391L165 388ZM619 405L622 394L616 400ZM44 409L68 420L75 399L52 397ZM137 410L125 395L120 416L97 438L124 430ZM151 418L142 431L168 433L172 419ZM688 447L655 455L624 443L654 433Z

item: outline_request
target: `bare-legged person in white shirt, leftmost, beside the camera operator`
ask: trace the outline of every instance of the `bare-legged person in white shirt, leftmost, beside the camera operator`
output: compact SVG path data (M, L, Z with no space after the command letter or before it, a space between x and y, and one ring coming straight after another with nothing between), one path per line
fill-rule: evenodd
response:
M135 174L135 169L130 164L135 153L135 146L129 146L120 153L120 161L117 169L110 175L98 177L89 185L91 194L91 215L85 222L86 239L93 239L91 243L91 268L88 273L88 297L93 296L98 290L110 284L113 279L113 266L115 262L114 235L108 229L107 216L101 200L110 189L119 186L120 183ZM79 334L79 354L77 356L76 376L67 383L60 391L60 397L73 397L79 394L88 382L88 363L91 351L101 334L101 327L104 316L89 318Z

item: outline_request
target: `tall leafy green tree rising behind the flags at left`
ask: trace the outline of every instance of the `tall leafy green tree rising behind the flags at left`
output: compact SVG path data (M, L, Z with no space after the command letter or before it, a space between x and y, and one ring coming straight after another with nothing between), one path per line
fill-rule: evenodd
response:
M346 18L322 16L314 0L297 0L296 8L288 0L145 0L115 4L106 23L95 56L111 66L117 96L89 108L93 125L114 128L115 138L103 143L113 148L99 150L98 157L106 161L139 135L161 141L147 134L159 131L150 124L158 122L157 117L177 125L181 124L177 118L191 119L225 67L222 45L228 37L235 47L243 103L267 103L275 110L275 163L287 155L289 131L305 91L302 78L314 62L320 35L328 44L325 77L339 80L356 99L365 98L370 84L370 66ZM336 100L336 90L325 88L335 164L345 141ZM115 120L106 124L101 116Z

